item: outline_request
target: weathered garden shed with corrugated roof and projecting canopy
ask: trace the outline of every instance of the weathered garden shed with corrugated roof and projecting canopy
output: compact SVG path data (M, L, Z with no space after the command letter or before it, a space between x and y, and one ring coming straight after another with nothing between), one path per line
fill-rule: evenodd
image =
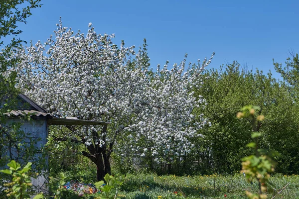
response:
M14 110L6 113L7 118L2 125L9 126L9 124L12 123L20 123L20 130L23 131L24 134L30 134L32 138L38 140L34 143L35 147L38 148L43 147L47 142L49 125L108 125L110 123L104 121L81 120L76 117L55 117L47 113L44 108L23 94L17 96L16 104ZM29 116L31 119L24 120L24 116ZM6 147L8 148L8 143ZM17 151L7 150L5 154L0 155L2 157L8 156L10 159L15 159L14 157L17 155ZM36 154L35 156L38 158L40 154ZM48 167L47 160L46 165L46 167ZM47 171L47 169L48 168L45 168L45 171ZM40 176L37 179L32 179L32 184L38 188L42 188L45 182L46 179L43 176Z

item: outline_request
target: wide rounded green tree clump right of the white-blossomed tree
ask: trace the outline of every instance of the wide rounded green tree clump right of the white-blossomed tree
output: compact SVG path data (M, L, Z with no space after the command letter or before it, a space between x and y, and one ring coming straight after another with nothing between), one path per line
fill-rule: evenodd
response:
M251 132L250 122L239 121L236 113L243 106L254 104L261 107L258 114L265 115L260 126L265 134L261 145L282 154L277 157L281 163L277 171L294 171L297 168L294 154L299 146L294 141L292 145L287 143L297 140L298 116L289 88L275 80L270 72L247 71L237 62L220 70L206 71L205 75L207 79L198 94L207 100L203 113L212 125L203 129L203 144L195 149L199 149L199 155L203 154L201 161L210 165L207 170L220 173L240 170L241 158L250 153L245 145L250 142ZM199 110L198 114L201 113Z

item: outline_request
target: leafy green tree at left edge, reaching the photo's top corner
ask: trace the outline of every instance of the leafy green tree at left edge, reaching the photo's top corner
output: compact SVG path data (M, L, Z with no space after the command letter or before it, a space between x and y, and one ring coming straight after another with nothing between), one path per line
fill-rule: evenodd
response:
M25 42L21 39L15 39L22 32L17 25L20 22L26 23L26 19L31 15L31 9L40 6L40 0L0 1L0 159L4 150L3 146L7 144L15 145L17 142L22 141L16 139L17 136L10 134L9 130L3 125L5 120L3 113L13 106L14 101L11 99L14 99L17 95L17 90L14 87L16 73L7 75L5 72L7 69L14 68L19 62L19 58L15 57L14 53ZM10 37L12 38L9 42L4 43L3 38L5 37L8 41ZM15 131L13 132L15 133ZM3 157L2 160L4 160Z

